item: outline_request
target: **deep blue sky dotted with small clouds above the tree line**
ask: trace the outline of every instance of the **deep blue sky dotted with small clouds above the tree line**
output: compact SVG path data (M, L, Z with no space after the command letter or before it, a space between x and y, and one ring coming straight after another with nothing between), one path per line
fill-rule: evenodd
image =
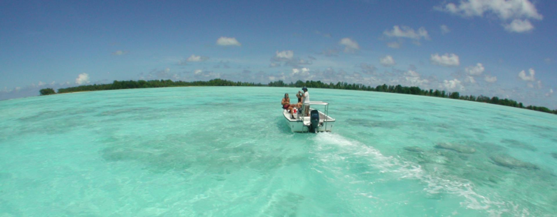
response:
M0 99L113 80L403 85L557 109L557 1L2 1Z

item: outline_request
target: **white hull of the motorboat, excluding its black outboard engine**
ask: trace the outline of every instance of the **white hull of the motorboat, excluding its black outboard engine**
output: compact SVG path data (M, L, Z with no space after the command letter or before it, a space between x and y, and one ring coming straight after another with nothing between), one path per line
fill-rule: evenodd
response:
M335 124L335 119L325 115L323 112L319 112L319 124L317 127L317 132L331 132L333 130L333 125ZM295 133L309 133L310 131L310 117L295 117L292 118L288 110L283 109L282 114L286 124L290 127L292 132ZM296 115L297 116L297 115Z

